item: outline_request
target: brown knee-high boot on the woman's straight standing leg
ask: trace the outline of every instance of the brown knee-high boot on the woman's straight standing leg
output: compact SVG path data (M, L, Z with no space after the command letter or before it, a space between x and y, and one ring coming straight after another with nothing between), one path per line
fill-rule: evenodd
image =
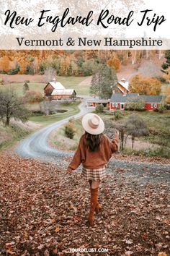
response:
M92 226L94 222L94 210L97 206L99 187L96 189L91 188L91 199L90 199L90 212L89 212L89 225Z

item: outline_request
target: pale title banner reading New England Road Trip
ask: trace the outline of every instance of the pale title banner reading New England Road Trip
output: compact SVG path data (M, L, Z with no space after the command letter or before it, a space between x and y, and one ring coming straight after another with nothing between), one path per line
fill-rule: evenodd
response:
M1 49L169 49L169 0L6 0Z

